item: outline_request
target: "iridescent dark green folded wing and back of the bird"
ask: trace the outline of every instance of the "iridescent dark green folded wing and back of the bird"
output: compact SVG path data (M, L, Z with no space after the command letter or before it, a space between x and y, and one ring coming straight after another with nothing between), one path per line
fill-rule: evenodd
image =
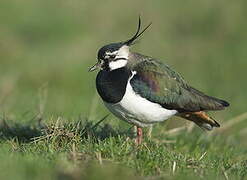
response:
M132 65L131 69L136 71L130 80L133 90L141 97L166 109L196 112L220 110L226 105L225 101L190 87L178 73L154 59L143 59Z

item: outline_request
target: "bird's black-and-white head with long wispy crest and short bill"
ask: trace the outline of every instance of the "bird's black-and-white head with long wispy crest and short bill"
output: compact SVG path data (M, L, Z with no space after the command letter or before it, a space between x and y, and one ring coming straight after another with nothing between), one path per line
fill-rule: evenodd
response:
M141 32L141 18L139 17L138 28L135 35L127 41L111 43L103 46L98 51L98 62L89 69L94 71L98 68L105 71L112 71L124 67L128 62L129 47L135 43L135 40L140 37L151 23L145 27Z

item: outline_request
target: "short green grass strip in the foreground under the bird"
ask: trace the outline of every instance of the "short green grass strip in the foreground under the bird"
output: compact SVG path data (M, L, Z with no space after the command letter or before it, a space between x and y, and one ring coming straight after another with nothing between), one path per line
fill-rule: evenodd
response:
M237 133L223 138L191 125L176 133L157 128L159 133L136 146L130 129L113 129L105 118L98 123L61 118L50 124L2 121L0 154L8 163L0 167L2 172L15 167L24 179L115 179L119 173L120 179L246 178L246 149L231 140Z

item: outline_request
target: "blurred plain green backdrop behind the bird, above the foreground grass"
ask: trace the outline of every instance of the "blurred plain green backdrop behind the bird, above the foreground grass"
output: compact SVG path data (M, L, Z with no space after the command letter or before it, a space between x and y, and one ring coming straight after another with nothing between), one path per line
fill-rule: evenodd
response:
M143 26L153 24L132 50L229 101L214 113L224 123L247 107L246 7L246 0L1 0L0 116L23 122L39 111L68 121L107 114L88 67L100 47L131 37L141 15Z

